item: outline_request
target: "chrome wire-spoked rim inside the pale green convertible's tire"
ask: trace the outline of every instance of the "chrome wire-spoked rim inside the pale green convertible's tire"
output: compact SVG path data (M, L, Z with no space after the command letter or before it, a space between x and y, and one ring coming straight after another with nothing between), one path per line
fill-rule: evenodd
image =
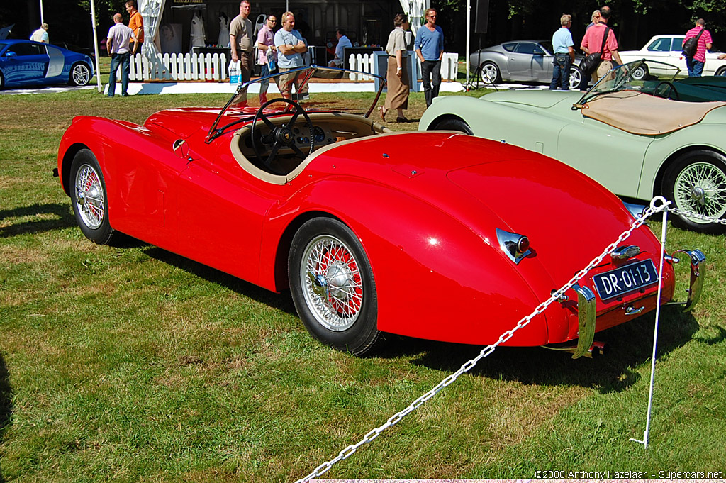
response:
M726 173L712 163L692 163L676 177L674 202L682 210L719 219L726 214ZM696 224L706 220L690 219Z

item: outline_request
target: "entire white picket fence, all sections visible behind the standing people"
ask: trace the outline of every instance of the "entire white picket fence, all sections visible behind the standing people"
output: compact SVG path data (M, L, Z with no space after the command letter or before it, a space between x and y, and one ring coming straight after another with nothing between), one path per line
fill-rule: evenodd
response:
M410 54L411 52L409 52ZM458 54L445 52L441 58L441 80L455 81L457 78ZM348 59L351 70L375 73L375 54L351 54ZM152 61L142 54L131 56L130 81L225 81L227 57L224 54L157 54ZM418 77L421 64L416 59ZM385 72L380 73L384 77ZM372 81L365 74L351 74L353 81Z

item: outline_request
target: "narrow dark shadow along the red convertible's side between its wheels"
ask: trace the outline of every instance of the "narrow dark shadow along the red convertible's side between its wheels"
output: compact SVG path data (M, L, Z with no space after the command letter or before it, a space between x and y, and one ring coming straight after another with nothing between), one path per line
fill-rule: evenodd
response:
M293 304L290 292L271 292L265 288L245 282L245 280L234 277L233 275L220 272L217 269L207 267L206 265L197 263L196 261L184 258L183 256L176 255L175 253L171 253L155 246L150 245L149 248L144 250L144 253L153 259L163 261L164 263L182 269L185 272L197 275L197 277L201 277L208 282L219 284L224 288L228 288L231 291L247 296L254 301L261 302L262 304L266 304L274 309L282 310L282 312L287 312L295 317L298 315L298 312L295 311L295 305Z

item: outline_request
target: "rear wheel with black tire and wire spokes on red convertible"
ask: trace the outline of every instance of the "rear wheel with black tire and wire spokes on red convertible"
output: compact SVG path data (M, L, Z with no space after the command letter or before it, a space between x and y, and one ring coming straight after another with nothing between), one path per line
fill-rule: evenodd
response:
M354 355L372 349L380 338L375 280L350 228L330 218L305 222L287 271L295 309L314 338Z

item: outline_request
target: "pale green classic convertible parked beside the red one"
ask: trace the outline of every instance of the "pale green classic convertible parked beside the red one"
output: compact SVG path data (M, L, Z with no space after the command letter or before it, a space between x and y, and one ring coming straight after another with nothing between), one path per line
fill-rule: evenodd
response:
M507 91L440 97L419 129L467 132L563 161L628 198L726 219L726 103L682 102L667 81L635 81L645 61L613 68L582 92ZM665 67L661 67L664 68ZM672 76L678 69L670 66ZM679 227L725 226L671 216Z

